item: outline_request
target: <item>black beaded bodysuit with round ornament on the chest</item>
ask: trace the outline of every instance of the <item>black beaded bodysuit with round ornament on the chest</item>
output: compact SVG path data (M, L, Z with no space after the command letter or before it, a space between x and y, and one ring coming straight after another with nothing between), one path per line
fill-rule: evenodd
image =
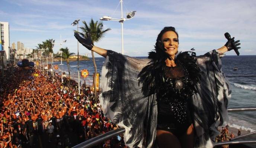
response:
M179 136L192 124L189 103L193 90L188 71L177 63L164 67L165 81L157 93L157 129Z

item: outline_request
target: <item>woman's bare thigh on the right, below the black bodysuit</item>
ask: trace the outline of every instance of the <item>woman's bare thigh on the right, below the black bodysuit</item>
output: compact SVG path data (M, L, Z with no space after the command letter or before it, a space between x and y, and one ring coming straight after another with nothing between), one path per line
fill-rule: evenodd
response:
M193 124L189 126L186 133L180 138L180 144L182 148L193 148L194 147L194 127Z

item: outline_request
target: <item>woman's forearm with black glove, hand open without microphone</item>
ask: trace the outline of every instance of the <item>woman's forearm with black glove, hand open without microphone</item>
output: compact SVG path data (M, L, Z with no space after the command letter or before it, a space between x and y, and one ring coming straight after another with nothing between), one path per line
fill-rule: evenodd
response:
M103 48L99 48L93 45L92 39L90 37L90 34L86 34L86 38L81 37L77 32L74 33L74 36L76 39L81 43L84 47L86 47L88 50L92 50L96 52L97 54L101 55L102 57L107 56L107 50Z

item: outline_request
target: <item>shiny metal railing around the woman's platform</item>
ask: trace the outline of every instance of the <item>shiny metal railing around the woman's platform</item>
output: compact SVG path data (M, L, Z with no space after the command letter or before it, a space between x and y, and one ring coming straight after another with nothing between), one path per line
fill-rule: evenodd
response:
M256 107L244 107L244 108L228 108L228 112L241 112L241 111L256 111ZM84 141L72 148L90 148L101 142L115 137L117 135L123 134L125 132L125 128L118 128L113 131L106 132L105 134L101 134L97 137ZM255 140L236 140L236 141L225 141L225 142L217 142L214 144L215 146L220 145L230 145L230 144L256 144Z

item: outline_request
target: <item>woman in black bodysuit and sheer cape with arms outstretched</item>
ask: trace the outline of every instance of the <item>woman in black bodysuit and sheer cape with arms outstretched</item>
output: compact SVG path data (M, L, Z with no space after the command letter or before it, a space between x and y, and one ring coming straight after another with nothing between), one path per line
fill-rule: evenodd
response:
M100 103L104 114L126 129L129 147L213 147L210 136L227 120L231 97L220 55L239 41L232 38L199 57L191 51L178 54L175 28L164 27L155 51L141 60L96 47L89 34L75 37L106 57Z

